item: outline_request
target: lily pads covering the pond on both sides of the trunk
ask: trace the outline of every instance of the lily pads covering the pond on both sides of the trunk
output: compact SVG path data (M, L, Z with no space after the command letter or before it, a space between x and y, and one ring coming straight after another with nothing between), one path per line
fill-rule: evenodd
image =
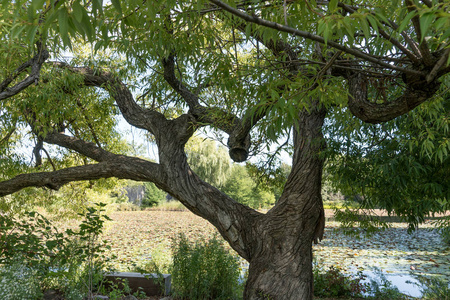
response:
M206 220L188 211L129 211L110 214L104 238L117 256L114 265L132 270L150 260L170 260L172 240L185 234L190 240L208 238L217 233ZM413 234L404 223L371 237L346 236L337 222L326 225L325 239L314 246L316 262L343 270L372 268L386 274L444 275L450 279L450 247L441 241L431 224ZM166 262L164 262L164 260Z

